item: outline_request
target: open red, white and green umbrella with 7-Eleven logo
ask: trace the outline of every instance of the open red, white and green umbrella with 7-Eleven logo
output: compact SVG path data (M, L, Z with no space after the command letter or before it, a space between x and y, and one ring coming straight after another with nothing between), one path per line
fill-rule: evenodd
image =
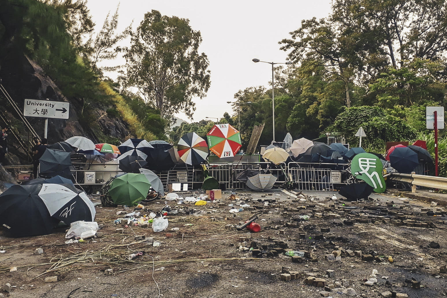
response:
M242 146L240 133L230 124L216 124L207 134L208 147L219 157L232 157Z

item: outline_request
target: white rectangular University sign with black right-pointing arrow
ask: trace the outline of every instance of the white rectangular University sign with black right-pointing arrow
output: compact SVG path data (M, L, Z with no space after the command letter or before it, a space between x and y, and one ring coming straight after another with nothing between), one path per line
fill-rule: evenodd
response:
M25 99L23 115L41 118L68 119L70 103L66 101L39 101Z

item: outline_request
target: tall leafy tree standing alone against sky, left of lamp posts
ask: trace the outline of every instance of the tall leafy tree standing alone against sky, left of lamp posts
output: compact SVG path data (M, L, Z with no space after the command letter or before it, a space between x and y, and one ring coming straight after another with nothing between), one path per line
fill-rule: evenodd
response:
M131 46L123 49L127 84L139 88L161 117L183 111L192 119L192 97L204 97L211 84L207 55L198 52L201 42L189 20L146 13L131 33Z

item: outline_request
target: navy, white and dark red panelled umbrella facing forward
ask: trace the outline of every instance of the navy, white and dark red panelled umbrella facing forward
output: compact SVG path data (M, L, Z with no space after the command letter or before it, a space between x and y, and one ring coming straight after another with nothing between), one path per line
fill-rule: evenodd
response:
M195 132L189 132L181 137L177 144L177 150L180 159L185 164L201 164L208 157L207 141Z

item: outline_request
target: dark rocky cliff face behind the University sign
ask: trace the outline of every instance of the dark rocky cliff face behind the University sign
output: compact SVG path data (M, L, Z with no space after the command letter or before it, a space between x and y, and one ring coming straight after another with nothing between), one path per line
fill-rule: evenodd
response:
M92 139L93 142L99 143L100 139L89 127L83 127L78 118L78 114L82 109L82 101L78 98L65 97L55 82L50 77L45 76L42 68L34 61L23 56L20 61L6 61L0 68L1 84L4 86L9 95L16 102L19 110L23 112L25 99L38 99L51 101L67 101L70 102L70 117L67 120L63 119L49 119L48 121L48 143L56 143L68 139L74 135L85 136ZM126 122L121 118L109 118L105 114L105 110L109 107L94 108L93 115L99 119L98 125L103 134L112 136L118 139L124 139L130 135L129 128ZM32 139L33 135L29 134L19 115L13 107L4 98L3 93L0 92L0 109L13 129L26 142L27 139ZM102 116L102 117L101 117ZM3 118L3 117L2 117ZM39 137L43 138L44 118L27 117L34 130ZM1 126L4 126L4 119L0 118ZM26 164L26 153L19 145L17 139L12 134L8 137L9 153L6 155L8 164Z

